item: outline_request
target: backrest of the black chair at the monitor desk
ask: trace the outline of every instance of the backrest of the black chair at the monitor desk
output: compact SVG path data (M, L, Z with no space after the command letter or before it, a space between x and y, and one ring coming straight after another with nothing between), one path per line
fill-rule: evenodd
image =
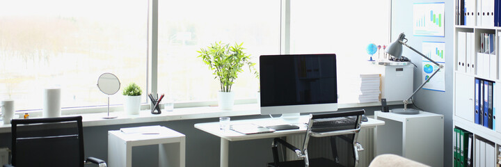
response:
M347 153L339 154L339 156L348 157L347 159L352 160L347 162L348 166L358 166L356 142L364 113L364 110L356 110L327 114L310 114L310 121L308 122L308 129L303 143L303 152L308 152L310 137L331 136L331 149L334 159L338 159L338 154L336 153L338 148L335 147L335 143L348 145ZM336 138L341 138L342 140L336 141ZM308 158L305 161L308 161Z

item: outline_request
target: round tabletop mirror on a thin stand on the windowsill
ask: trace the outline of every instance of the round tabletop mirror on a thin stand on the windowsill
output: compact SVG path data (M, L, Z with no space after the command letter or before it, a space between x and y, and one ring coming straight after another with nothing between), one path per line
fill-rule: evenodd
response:
M108 116L105 116L106 119L117 118L117 116L109 115L109 96L115 95L115 93L120 90L120 81L115 74L104 73L101 74L99 79L97 79L97 88L101 90L102 93L108 95Z

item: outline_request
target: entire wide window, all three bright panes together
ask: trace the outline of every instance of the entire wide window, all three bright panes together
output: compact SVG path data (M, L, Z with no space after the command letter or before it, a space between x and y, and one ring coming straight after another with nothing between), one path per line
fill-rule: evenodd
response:
M97 78L111 72L122 88L134 81L143 93L152 85L175 102L216 100L218 81L198 50L243 42L259 63L260 55L280 54L289 38L291 54L337 54L340 102L356 102L365 47L389 43L390 1L287 1L289 37L280 32L284 2L159 1L157 83L148 83L150 1L0 1L0 99L15 100L16 110L41 109L44 88L61 86L65 108L102 106L107 95ZM255 98L258 80L244 70L232 90L237 99ZM121 90L111 104L122 104Z

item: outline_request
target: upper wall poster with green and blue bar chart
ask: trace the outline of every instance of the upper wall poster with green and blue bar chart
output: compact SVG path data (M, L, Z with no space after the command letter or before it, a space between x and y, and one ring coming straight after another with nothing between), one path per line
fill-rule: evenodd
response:
M445 2L414 3L415 36L445 36Z

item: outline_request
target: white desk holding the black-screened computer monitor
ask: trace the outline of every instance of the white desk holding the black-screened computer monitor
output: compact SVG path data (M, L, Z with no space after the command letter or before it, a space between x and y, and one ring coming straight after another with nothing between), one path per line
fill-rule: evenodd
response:
M283 120L282 118L262 118L262 119L252 119L252 120L232 120L230 121L230 125L234 124L245 124L245 123L253 123L255 125L261 126L269 126L269 125L283 125L283 124L294 124L298 125L299 129L292 130L281 130L273 133L265 133L265 134L240 134L239 132L234 132L232 130L221 130L219 129L219 122L207 122L207 123L198 123L195 124L197 129L200 129L209 134L213 134L214 136L218 136L221 138L221 157L220 163L221 167L228 167L228 153L229 153L229 141L245 141L245 140L253 140L259 138L275 138L281 136L287 136L289 134L300 134L306 132L306 123L308 122L308 116L301 116L296 120ZM374 120L368 118L369 121L362 122L361 127L363 128L374 128L378 125L384 125L385 122L381 120Z

